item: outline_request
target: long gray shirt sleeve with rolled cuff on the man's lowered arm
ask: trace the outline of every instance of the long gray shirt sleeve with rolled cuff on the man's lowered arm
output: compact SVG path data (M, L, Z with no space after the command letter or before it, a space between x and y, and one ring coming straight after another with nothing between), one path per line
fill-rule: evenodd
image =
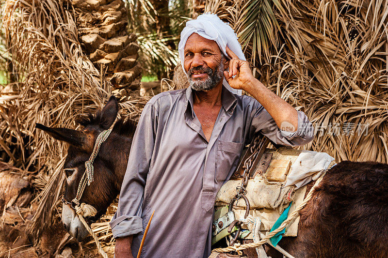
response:
M133 137L117 212L110 222L114 238L127 237L143 230L143 194L155 144L157 123L156 108L148 103L143 109Z

